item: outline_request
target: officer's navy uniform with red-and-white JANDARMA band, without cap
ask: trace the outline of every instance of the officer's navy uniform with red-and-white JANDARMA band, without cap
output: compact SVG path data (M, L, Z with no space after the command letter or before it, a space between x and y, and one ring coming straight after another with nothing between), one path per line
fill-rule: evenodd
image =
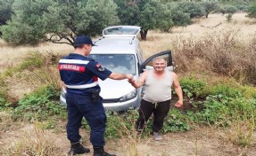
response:
M97 98L96 94L100 90L98 77L105 80L111 71L95 60L76 53L60 59L58 67L62 82L67 87L68 139L71 143L79 142L81 136L78 130L85 117L91 128L91 143L94 147L103 146L106 115L102 98Z

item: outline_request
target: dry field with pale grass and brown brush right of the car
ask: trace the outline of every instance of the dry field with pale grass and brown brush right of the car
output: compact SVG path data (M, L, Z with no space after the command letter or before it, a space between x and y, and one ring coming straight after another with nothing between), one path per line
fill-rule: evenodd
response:
M217 73L240 82L256 83L256 20L236 13L228 23L220 14L176 27L171 34L150 32L142 42L145 58L171 50L178 73Z

